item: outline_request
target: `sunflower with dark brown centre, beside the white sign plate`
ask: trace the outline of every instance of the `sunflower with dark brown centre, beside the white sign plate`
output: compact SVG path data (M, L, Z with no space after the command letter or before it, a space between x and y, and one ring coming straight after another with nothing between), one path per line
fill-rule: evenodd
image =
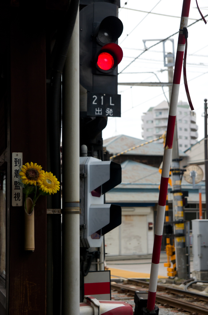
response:
M26 163L21 168L21 172L19 175L21 176L21 180L23 184L35 185L36 183L42 183L44 179L44 171L41 170L41 165L37 165L37 163L33 164L32 162Z

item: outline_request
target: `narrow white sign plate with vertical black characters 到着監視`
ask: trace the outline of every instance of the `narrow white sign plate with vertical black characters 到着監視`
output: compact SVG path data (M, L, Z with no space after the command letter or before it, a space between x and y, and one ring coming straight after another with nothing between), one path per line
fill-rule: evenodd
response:
M22 167L22 152L12 152L12 206L22 206L22 187L19 186L19 167Z

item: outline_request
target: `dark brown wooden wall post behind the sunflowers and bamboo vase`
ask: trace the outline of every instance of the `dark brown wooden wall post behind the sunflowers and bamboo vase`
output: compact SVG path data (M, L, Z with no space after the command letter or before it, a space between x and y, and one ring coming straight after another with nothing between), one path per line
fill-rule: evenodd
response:
M20 1L11 11L10 152L23 152L23 163L32 161L46 170L45 8L29 3ZM34 213L31 252L24 250L24 208L10 206L10 315L46 314L46 197L39 198Z

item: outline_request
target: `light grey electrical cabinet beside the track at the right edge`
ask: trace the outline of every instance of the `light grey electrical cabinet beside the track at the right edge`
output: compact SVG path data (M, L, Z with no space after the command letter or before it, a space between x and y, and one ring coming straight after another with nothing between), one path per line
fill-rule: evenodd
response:
M192 220L194 271L208 271L208 220Z

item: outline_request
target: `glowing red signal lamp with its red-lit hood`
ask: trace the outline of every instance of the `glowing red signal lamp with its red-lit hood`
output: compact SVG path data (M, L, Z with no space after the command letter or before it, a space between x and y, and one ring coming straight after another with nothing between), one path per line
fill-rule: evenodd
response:
M101 72L112 71L122 60L123 51L115 43L104 45L99 51L96 67Z

